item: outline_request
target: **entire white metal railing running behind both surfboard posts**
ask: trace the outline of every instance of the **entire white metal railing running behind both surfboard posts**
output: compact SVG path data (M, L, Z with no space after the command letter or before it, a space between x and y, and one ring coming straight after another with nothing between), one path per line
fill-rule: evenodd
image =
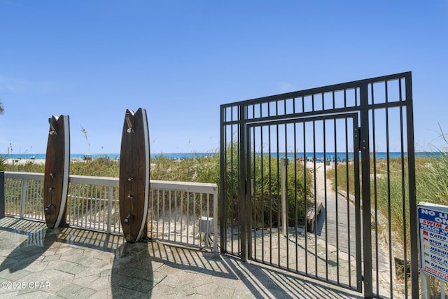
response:
M29 172L5 172L5 214L45 221L43 177ZM118 202L118 178L71 175L66 223L121 235ZM218 186L151 180L147 221L150 238L212 246L217 251Z

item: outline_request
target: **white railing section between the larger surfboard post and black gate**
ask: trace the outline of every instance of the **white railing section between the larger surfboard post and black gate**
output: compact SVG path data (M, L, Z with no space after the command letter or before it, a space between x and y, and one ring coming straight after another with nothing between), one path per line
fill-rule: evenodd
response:
M151 181L149 237L209 246L218 251L218 186L214 183Z

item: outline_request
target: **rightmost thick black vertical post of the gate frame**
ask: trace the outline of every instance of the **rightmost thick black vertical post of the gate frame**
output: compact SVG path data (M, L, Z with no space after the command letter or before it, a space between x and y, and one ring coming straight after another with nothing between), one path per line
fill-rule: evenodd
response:
M417 241L417 210L415 194L415 158L414 158L414 115L412 108L412 76L405 77L406 118L407 118L407 169L409 171L409 237L411 246L411 286L412 298L419 298L419 245Z

